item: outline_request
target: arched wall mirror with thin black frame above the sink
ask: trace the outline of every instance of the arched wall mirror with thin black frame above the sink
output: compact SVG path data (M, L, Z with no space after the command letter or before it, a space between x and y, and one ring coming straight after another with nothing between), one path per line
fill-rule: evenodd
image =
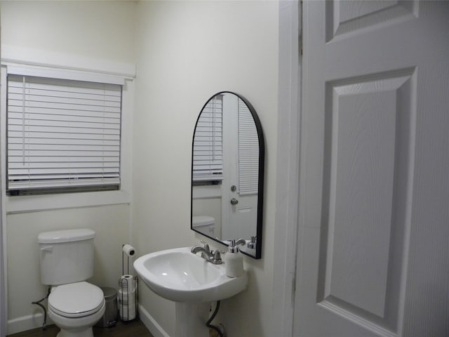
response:
M242 253L262 256L264 138L241 95L211 97L196 120L192 143L191 228L217 242L243 238Z

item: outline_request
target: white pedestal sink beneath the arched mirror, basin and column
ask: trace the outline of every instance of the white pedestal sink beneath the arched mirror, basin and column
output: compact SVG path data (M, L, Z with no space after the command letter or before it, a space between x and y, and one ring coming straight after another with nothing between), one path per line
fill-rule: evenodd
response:
M225 264L194 255L190 247L149 253L135 260L135 271L154 293L176 303L175 337L208 337L210 303L240 293L248 275L227 277Z

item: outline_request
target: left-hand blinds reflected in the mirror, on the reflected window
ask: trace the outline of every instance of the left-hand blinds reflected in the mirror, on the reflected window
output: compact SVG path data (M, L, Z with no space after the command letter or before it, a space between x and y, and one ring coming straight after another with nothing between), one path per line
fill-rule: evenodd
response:
M196 123L193 150L193 180L222 180L222 96L203 108Z

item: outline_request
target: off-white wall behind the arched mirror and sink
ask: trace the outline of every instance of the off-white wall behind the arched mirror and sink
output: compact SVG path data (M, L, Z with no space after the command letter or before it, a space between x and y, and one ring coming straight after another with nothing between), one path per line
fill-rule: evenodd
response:
M199 242L189 229L191 146L206 100L218 91L234 91L254 105L262 122L262 259L245 257L248 290L222 301L217 321L229 336L276 336L271 318L278 6L277 1L142 1L137 6L132 213L140 255ZM145 310L173 336L174 304L145 286L141 295Z

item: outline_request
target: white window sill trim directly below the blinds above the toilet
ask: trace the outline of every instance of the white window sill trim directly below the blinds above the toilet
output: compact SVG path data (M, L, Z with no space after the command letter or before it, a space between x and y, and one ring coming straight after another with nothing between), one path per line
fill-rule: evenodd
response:
M42 194L5 198L7 214L74 209L79 207L129 204L130 194L123 190L105 192L80 192L67 194Z

